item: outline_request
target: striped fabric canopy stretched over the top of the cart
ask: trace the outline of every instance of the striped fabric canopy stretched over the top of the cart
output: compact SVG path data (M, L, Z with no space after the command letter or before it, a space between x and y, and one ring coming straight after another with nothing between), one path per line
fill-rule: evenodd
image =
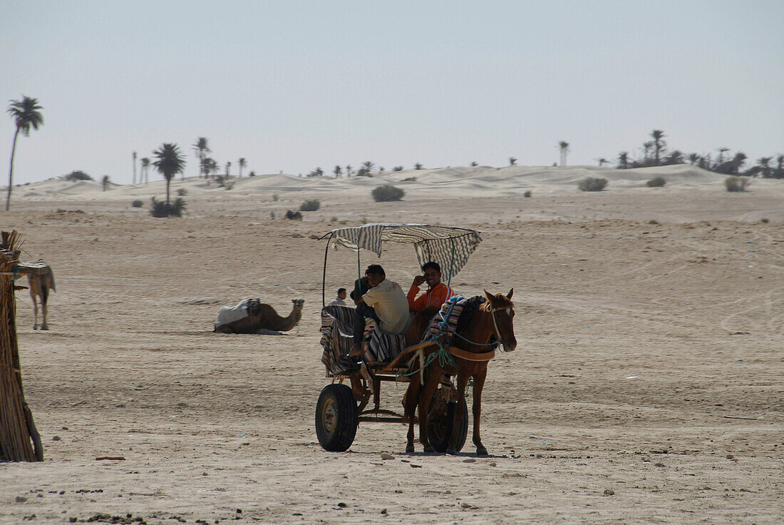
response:
M470 228L452 228L434 224L365 224L357 228L336 228L331 239L350 250L364 248L381 257L383 241L410 242L419 265L437 262L441 272L454 277L482 242L481 235Z

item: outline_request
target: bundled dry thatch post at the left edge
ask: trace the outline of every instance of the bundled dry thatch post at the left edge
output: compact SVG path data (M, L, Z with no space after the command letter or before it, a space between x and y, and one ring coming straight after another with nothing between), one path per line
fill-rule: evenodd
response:
M16 340L20 243L16 230L0 232L0 461L43 461L41 436L24 402Z

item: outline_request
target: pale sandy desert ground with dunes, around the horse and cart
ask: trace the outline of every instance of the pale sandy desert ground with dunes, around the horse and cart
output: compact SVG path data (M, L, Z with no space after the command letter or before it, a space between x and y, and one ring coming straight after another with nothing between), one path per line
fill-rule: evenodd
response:
M490 170L404 172L405 200L381 204L370 179L177 180L180 219L130 206L161 182L16 188L3 229L57 292L49 332L18 293L46 459L0 464L0 523L782 523L784 184L729 194L673 169L646 188L659 172L604 170L589 194L572 183L596 169L495 170L495 184ZM304 221L270 219L312 198ZM485 387L489 458L470 441L405 454L397 424L362 423L347 453L319 446L316 238L363 220L477 228L452 285L514 286L517 351ZM356 272L346 250L329 257L328 300ZM416 273L409 246L380 262L404 286ZM304 298L299 330L212 334L246 297L283 315ZM383 407L403 392L384 385Z

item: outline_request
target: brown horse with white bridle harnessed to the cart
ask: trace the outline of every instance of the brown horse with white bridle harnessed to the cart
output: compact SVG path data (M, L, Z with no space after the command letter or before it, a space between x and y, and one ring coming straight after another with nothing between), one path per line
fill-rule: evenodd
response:
M488 344L493 337L503 345L506 352L512 352L517 347L517 339L514 337L514 326L512 324L514 319L514 304L511 301L513 293L514 289L509 290L506 296L502 293L492 295L485 290L487 301L474 312L470 322L467 323L466 327L459 334L462 337L456 337L452 344L453 347L459 349L458 352L460 350L465 351L459 352L466 355L465 358L452 355L455 366L441 366L440 359L434 359L430 366L423 370L425 372L424 385L420 385L419 372L412 375L404 398L405 417L408 417L408 444L405 447L406 452L412 453L414 451L414 415L417 407L419 407L419 442L423 444L426 454L434 452L434 447L430 445L427 437L427 412L430 399L433 398L442 374L446 372L447 374L457 374L457 392L459 396L462 396L463 392L466 391L468 380L471 377L474 378L474 445L477 447L477 455L486 456L488 454L487 449L481 442L479 421L481 417L482 388L485 386L489 359L483 359L481 354L488 355ZM432 313L432 311L423 311L416 315L415 320L412 321L412 330L409 330L407 334L409 346L412 344L412 341L416 341L416 334L413 334L413 331L421 330L419 332L421 336L424 332L422 327L426 326L423 318L426 317L426 320L429 320ZM416 328L413 328L413 326L416 326ZM436 351L437 348L430 348L426 354L429 355ZM481 360L474 360L473 356L469 356L470 354L479 354L476 359ZM455 410L452 436L449 439L447 448L448 454L456 454L457 433L454 429L459 428L463 415L463 410Z

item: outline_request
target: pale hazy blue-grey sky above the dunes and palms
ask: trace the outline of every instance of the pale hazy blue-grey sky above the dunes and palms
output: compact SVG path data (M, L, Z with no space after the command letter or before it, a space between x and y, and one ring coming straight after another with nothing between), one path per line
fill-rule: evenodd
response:
M15 184L130 184L163 143L196 175L198 137L234 174L551 166L561 140L596 165L652 129L756 162L784 153L781 20L780 0L0 0L0 97L43 106ZM2 170L15 129L4 112Z

